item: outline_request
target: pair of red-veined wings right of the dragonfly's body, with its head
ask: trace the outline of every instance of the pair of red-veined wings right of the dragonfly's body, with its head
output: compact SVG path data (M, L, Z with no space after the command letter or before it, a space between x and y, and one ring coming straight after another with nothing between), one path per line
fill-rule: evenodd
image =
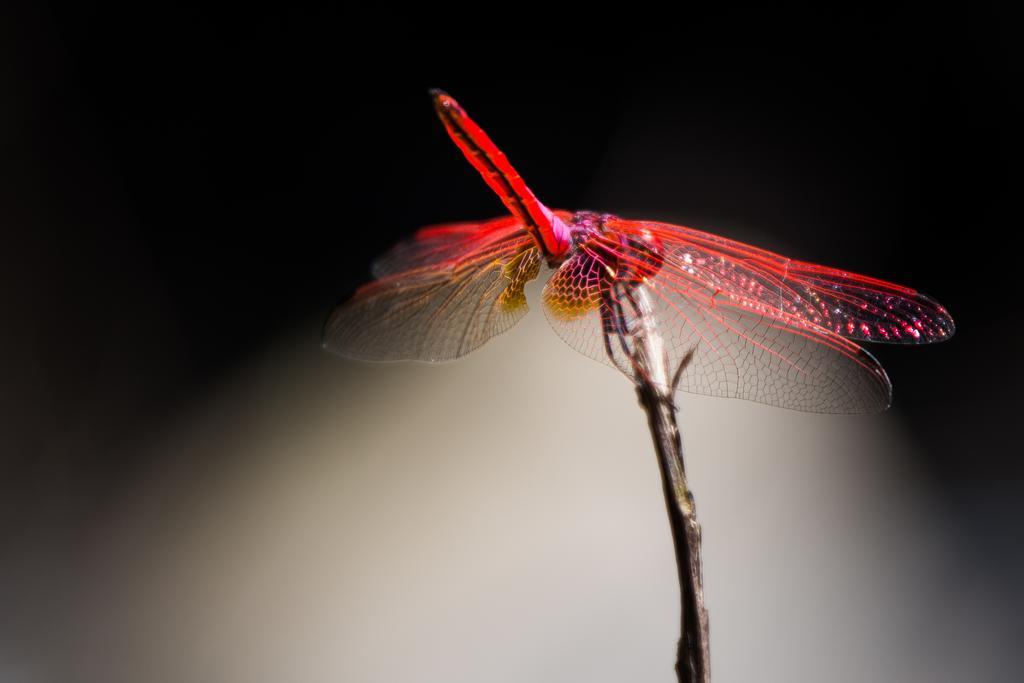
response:
M921 343L953 331L945 309L912 290L707 232L620 219L558 268L544 290L545 311L570 346L629 374L622 348L606 342L616 332L609 308L625 311L627 329L637 323L617 305L630 288L650 302L670 362L692 353L680 389L801 411L889 405L885 371L852 339Z

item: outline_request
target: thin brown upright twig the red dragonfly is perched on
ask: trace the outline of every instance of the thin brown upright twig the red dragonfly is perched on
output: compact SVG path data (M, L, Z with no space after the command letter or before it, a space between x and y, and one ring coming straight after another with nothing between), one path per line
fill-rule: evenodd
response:
M623 308L624 302L629 306L629 318ZM630 359L637 397L647 413L662 470L682 602L676 674L680 683L710 683L711 649L700 562L700 524L697 522L693 495L686 483L682 439L673 400L679 379L693 351L682 359L670 380L668 354L643 287L617 288L613 294L608 294L605 303L607 305L603 308L608 311L604 326L605 347L614 360L615 347L609 338L614 335L618 348Z

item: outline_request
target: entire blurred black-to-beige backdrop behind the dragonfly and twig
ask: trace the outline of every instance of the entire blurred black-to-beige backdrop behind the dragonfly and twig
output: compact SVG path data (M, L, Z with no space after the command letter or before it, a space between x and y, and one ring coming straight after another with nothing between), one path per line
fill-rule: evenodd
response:
M674 680L625 378L536 305L456 364L319 350L374 256L502 213L429 87L553 207L904 283L957 323L871 348L881 416L683 397L716 680L1019 680L1013 24L682 11L530 41L5 7L0 681Z

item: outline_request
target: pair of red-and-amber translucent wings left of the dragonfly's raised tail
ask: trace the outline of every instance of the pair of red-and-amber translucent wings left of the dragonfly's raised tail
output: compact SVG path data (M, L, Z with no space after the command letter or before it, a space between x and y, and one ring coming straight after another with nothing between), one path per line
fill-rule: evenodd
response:
M423 228L373 266L374 282L331 313L324 347L362 360L450 360L526 312L540 271L534 239L514 218Z

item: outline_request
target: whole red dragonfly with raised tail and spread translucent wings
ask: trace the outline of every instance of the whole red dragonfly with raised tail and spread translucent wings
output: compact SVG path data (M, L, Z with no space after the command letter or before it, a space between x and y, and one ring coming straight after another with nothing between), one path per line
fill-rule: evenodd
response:
M861 342L948 339L944 307L907 287L689 227L557 211L458 102L434 108L510 216L425 227L331 314L324 346L369 360L449 360L509 330L544 269L548 321L569 346L633 376L624 343L647 302L678 388L820 413L883 411L892 385ZM650 321L648 321L650 323Z

